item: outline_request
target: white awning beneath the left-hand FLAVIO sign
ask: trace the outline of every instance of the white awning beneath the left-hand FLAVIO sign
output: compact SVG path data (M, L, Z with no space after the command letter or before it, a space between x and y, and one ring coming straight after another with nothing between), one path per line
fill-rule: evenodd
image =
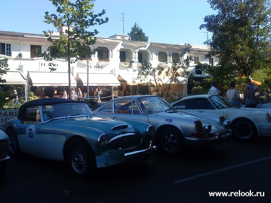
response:
M28 72L29 85L32 86L68 86L68 72ZM76 87L76 81L70 73L70 86Z

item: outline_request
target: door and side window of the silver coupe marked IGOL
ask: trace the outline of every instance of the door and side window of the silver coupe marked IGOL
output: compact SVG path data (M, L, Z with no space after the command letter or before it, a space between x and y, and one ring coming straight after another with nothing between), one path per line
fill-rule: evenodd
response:
M142 121L145 123L149 122L148 116L141 113L140 109L138 108L138 104L135 102L135 100L121 100L113 102L110 106L112 108L112 114L109 118L124 118L124 119L131 119L131 120L137 120ZM102 111L105 111L107 109L108 112L108 106L104 106ZM101 112L100 110L100 112ZM104 115L104 114L103 114Z

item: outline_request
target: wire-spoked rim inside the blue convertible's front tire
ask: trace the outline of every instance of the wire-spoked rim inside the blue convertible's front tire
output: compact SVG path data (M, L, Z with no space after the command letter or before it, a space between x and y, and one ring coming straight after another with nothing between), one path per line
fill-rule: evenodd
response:
M77 173L84 173L87 167L87 158L80 147L74 148L71 153L71 166Z

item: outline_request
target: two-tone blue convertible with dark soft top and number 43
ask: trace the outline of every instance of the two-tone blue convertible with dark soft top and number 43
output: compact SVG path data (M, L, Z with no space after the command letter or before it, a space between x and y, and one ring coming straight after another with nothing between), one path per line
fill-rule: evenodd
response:
M152 125L99 118L86 102L66 99L26 102L1 130L9 137L12 157L22 152L66 161L79 178L91 176L97 168L141 164L156 148Z

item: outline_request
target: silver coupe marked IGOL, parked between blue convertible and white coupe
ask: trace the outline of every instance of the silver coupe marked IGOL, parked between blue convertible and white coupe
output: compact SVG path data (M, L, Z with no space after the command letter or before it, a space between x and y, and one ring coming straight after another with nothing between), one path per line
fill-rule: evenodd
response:
M231 135L229 122L216 116L206 120L186 112L178 112L162 98L150 95L113 99L94 110L104 118L133 119L155 127L154 142L165 153L179 153L186 145L207 146ZM207 116L206 116L207 117Z

